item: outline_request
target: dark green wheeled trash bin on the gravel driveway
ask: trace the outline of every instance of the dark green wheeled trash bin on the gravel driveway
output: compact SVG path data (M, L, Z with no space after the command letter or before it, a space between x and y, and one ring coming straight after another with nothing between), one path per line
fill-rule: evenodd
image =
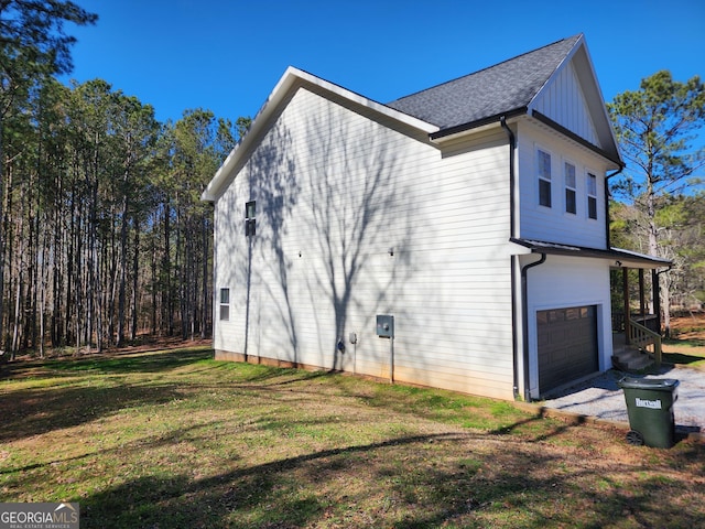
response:
M670 449L674 444L673 403L679 381L673 378L625 377L618 386L625 390L630 431L629 444Z

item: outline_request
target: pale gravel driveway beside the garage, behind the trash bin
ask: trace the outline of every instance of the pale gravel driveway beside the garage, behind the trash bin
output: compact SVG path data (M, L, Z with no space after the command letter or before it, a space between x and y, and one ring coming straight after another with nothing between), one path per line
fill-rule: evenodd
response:
M625 393L617 381L623 373L610 369L603 375L565 389L542 402L546 408L570 411L609 421L629 422ZM628 375L632 378L675 378L680 381L673 404L679 431L705 433L705 371L685 367L662 366L659 375Z

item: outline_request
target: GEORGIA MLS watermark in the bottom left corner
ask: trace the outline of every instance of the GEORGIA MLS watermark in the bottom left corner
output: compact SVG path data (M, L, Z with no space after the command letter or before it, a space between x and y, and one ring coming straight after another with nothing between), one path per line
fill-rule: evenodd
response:
M0 504L0 529L78 529L78 504Z

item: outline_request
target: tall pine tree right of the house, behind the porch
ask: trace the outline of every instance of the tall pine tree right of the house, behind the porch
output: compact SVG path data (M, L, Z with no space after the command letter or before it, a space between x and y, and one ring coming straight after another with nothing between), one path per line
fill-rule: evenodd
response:
M617 95L607 108L627 161L626 176L615 191L641 213L648 253L672 258L659 209L702 184L696 174L705 164L705 149L694 148L692 141L704 125L705 86L697 76L680 83L670 72L657 72L641 82L638 91ZM666 335L670 293L670 281L662 281Z

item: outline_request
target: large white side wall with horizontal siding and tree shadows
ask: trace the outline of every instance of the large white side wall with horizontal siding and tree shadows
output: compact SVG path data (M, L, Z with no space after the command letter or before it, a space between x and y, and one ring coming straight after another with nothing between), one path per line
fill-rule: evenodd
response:
M397 380L511 399L508 153L498 132L442 155L300 89L216 202L215 347L388 377L393 314Z

